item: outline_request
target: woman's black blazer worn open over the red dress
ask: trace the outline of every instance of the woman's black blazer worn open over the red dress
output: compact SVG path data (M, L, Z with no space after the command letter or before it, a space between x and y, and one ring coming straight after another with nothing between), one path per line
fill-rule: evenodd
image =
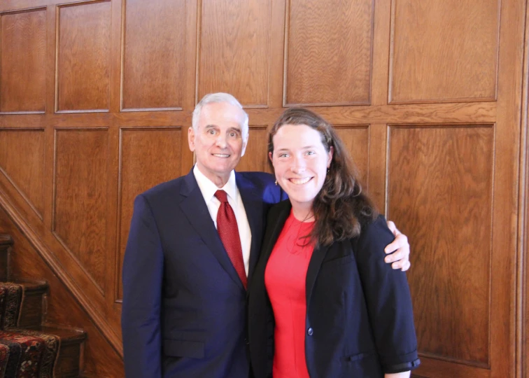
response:
M268 214L260 260L248 288L248 337L255 378L271 377L274 314L264 270L290 214L290 202ZM313 251L306 273L306 365L312 378L383 377L418 367L406 274L384 262L393 234L383 216L359 237Z

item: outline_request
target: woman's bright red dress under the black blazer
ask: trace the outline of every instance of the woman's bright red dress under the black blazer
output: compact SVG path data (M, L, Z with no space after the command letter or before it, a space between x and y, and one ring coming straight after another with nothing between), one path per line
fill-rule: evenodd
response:
M290 211L264 272L276 328L274 378L309 378L305 360L306 270L313 251L308 238L313 222Z

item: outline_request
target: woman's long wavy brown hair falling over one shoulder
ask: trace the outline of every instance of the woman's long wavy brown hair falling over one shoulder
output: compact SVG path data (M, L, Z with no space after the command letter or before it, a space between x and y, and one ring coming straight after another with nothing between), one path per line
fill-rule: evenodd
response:
M358 169L334 127L308 109L288 109L269 132L269 153L274 153L274 135L283 125L312 127L320 133L325 150L329 152L331 147L334 150L327 177L312 205L315 223L309 236L313 244L328 246L334 241L360 235L362 223L374 220L378 212L372 200L362 192Z

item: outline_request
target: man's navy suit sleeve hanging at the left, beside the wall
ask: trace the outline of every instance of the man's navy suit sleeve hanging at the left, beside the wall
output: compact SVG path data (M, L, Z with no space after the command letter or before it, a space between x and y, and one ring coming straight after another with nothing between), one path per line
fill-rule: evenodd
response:
M123 260L121 328L127 378L162 377L160 303L164 258L160 235L145 197L134 214Z

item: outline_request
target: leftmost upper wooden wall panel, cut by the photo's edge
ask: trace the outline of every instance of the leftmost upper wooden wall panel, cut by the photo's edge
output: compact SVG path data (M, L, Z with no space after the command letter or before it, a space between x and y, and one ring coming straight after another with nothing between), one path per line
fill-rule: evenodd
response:
M0 111L45 109L46 11L0 16Z

